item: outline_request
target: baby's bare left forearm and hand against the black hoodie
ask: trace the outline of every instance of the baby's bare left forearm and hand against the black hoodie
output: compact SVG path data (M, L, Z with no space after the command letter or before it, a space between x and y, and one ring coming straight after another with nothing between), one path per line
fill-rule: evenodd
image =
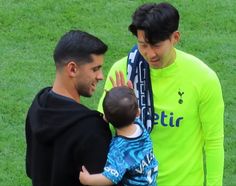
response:
M84 185L113 185L112 181L100 174L90 174L85 166L79 174L79 180Z

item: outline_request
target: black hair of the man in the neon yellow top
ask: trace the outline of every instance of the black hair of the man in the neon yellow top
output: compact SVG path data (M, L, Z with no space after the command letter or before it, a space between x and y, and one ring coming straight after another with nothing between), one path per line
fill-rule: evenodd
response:
M147 3L134 12L129 30L135 36L137 30L143 30L147 42L153 45L169 39L178 27L179 13L175 7L169 3Z

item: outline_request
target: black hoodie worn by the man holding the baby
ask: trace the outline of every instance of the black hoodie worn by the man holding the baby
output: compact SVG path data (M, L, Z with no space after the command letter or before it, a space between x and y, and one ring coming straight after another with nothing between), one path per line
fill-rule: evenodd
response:
M102 114L41 90L26 118L26 173L33 186L78 186L79 171L103 171L111 132Z

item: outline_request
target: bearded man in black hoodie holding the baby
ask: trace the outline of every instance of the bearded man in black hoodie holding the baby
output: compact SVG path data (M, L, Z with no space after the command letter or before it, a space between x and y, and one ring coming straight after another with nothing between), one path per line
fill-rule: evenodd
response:
M85 165L103 171L111 132L102 114L80 104L103 79L107 45L79 30L66 33L54 50L56 78L35 97L26 118L26 173L33 186L78 186Z

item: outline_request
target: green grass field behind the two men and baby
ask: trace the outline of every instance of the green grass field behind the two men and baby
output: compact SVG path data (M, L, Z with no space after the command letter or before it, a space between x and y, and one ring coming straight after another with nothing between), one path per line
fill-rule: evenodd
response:
M35 94L52 85L52 52L70 29L88 31L109 45L104 74L135 43L131 14L144 0L0 0L0 185L30 186L25 174L24 121ZM159 2L159 1L156 1ZM181 15L177 48L218 74L225 100L224 185L236 185L236 1L169 0ZM83 102L96 108L103 91ZM217 162L216 162L217 163Z

